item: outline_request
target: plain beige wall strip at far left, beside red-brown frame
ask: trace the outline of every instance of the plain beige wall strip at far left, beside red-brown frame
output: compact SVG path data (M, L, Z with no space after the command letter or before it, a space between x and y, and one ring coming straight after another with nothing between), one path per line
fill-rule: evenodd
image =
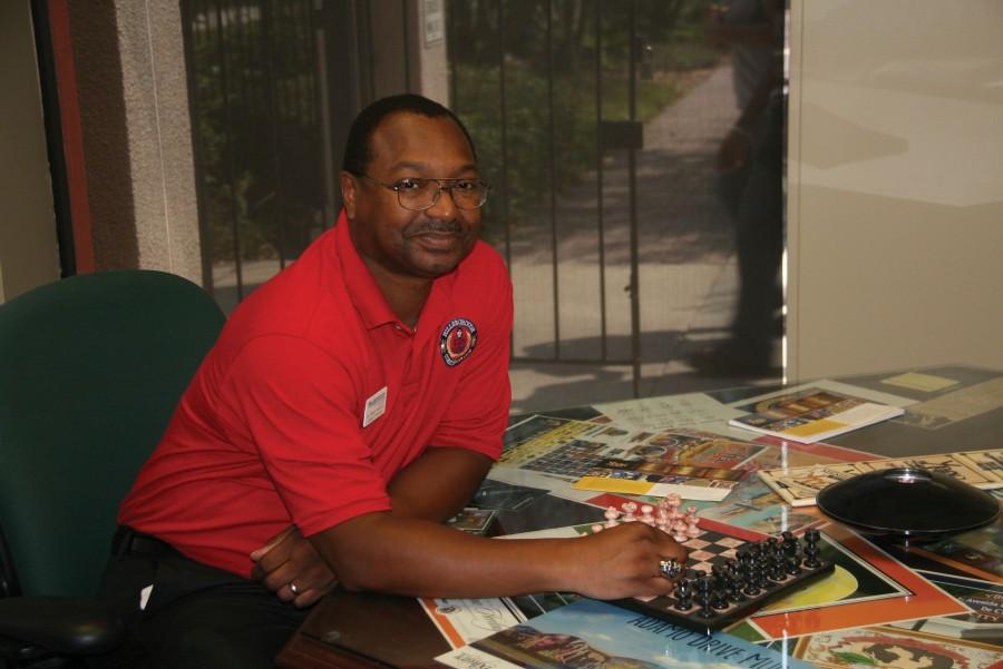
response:
M0 2L0 303L59 278L29 3Z

